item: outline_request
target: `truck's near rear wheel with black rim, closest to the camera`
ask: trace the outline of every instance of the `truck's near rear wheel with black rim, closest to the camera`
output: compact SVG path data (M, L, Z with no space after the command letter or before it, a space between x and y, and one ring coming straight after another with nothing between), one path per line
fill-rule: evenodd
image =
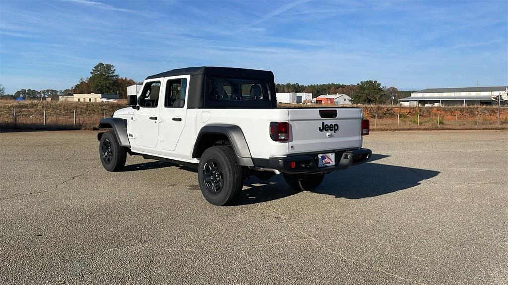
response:
M207 149L198 169L201 192L213 205L232 204L242 190L242 169L231 148L219 146Z

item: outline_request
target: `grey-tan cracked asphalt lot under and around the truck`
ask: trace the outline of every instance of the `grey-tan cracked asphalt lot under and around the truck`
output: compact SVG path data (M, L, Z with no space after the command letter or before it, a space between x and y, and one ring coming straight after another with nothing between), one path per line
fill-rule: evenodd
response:
M251 179L229 207L167 163L107 172L94 131L0 144L3 283L508 283L506 131L371 132L315 193Z

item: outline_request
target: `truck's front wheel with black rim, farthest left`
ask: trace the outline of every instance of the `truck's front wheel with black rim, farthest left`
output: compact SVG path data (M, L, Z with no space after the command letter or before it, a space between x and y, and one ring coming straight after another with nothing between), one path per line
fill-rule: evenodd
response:
M112 130L102 134L99 142L99 157L102 166L108 171L119 171L125 165L127 153L120 147Z

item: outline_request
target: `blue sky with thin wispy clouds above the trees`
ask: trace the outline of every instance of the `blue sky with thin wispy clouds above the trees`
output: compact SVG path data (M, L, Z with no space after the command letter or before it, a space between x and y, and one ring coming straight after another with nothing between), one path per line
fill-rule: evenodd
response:
M278 83L508 84L507 1L6 1L0 83L65 89L98 62L142 81L201 65Z

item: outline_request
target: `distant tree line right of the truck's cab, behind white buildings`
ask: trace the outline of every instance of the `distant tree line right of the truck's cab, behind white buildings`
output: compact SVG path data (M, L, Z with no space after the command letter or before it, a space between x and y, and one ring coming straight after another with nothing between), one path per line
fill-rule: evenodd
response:
M277 83L276 92L306 92L312 93L312 98L323 94L346 94L350 96L354 104L392 104L397 99L409 97L411 90L398 90L396 87L381 86L375 80L366 80L358 84L310 84L301 85L298 83Z

